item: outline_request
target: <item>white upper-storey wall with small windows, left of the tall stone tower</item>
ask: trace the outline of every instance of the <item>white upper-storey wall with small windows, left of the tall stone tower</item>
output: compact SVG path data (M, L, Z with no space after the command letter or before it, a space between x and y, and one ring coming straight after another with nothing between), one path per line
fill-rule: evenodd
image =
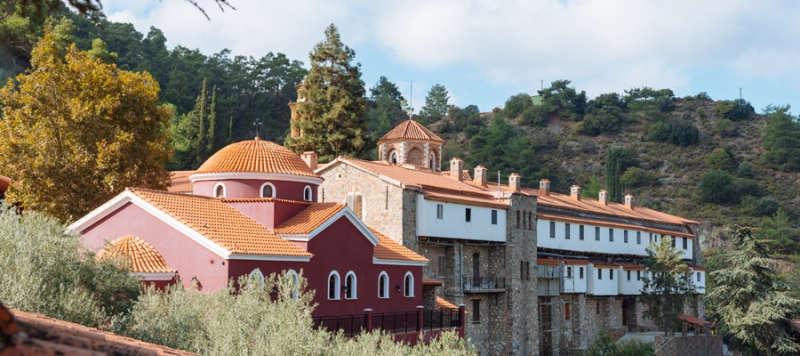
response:
M436 206L442 205L442 219L436 217ZM466 209L472 209L470 222ZM497 211L497 224L492 224L492 210ZM426 200L417 195L417 236L444 237L481 241L506 241L506 210Z

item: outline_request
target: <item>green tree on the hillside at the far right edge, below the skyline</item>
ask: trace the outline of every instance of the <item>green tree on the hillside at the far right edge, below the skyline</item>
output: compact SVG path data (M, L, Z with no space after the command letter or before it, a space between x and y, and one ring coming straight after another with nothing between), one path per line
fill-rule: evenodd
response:
M800 125L789 106L769 106L764 113L767 126L762 145L767 152L761 155L762 164L782 171L800 169Z

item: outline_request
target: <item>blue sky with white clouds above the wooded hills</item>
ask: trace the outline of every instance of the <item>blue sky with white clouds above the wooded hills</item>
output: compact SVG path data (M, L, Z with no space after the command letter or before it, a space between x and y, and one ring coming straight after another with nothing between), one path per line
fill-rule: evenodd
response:
M308 53L331 23L356 52L362 79L396 83L416 111L434 84L450 103L502 107L514 94L568 79L589 98L633 87L677 96L740 95L760 112L800 113L800 2L771 0L103 0L116 22L167 46L206 54ZM412 89L413 87L413 89Z

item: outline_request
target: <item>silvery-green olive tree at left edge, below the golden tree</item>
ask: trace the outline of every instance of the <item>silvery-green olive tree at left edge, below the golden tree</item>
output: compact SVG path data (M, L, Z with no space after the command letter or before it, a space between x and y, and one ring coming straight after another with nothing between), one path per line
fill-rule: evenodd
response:
M86 326L105 325L139 296L130 265L94 258L56 219L0 203L0 300Z

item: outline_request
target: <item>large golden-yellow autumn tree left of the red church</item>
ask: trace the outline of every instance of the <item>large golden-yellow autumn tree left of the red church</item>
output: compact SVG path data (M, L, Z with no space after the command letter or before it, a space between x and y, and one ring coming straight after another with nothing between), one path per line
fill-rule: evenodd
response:
M62 57L60 45L47 33L32 69L0 90L6 201L67 221L125 187L166 188L171 112L158 104L158 83L74 45Z

